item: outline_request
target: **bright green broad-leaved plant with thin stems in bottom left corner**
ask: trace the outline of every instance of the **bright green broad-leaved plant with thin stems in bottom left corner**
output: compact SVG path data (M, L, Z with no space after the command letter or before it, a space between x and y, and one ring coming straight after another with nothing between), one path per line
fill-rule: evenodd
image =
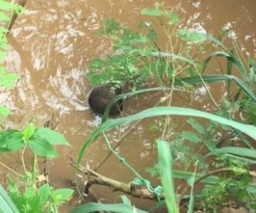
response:
M46 128L35 128L29 123L22 130L8 129L0 133L0 152L21 151L25 175L20 175L19 184L9 177L8 191L12 202L20 212L57 212L57 206L68 200L73 193L70 188L54 189L49 183L37 183L40 174L37 156L56 158L53 145L68 145L64 136ZM25 165L24 152L29 149L34 153L32 172ZM39 186L38 186L39 184Z

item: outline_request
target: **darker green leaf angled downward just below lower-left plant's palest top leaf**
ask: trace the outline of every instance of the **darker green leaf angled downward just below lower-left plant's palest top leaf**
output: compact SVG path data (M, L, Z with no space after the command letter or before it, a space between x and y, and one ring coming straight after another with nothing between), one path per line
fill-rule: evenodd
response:
M56 150L41 136L32 136L27 145L36 155L41 157L56 158L58 156Z

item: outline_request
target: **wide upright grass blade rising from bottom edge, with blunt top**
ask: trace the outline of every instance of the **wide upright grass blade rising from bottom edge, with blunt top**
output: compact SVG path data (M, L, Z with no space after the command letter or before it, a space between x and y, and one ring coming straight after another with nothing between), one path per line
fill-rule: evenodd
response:
M157 140L158 164L161 174L163 193L169 212L178 212L175 187L172 174L172 158L169 150L169 143Z

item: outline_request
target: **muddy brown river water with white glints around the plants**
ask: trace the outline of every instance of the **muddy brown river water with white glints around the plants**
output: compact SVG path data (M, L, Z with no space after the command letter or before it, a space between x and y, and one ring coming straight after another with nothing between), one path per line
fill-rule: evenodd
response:
M0 104L11 109L5 127L20 129L28 121L42 126L54 114L56 130L72 144L72 147L58 147L60 158L48 162L49 177L54 186L67 187L68 181L74 180L75 171L68 158L77 157L82 143L95 128L96 119L87 104L91 85L85 73L94 57L103 57L110 51L109 41L97 36L95 30L105 18L116 18L122 26L134 29L140 21L147 19L139 11L152 7L154 2L157 1L27 0L26 12L12 26L5 68L19 73L20 80L11 91L0 88ZM223 27L230 27L245 55L255 58L255 0L163 2L166 7L176 8L185 26L214 35ZM161 42L164 44L164 40ZM177 106L184 106L182 100L174 102ZM154 103L150 97L128 100L124 114L138 112ZM152 135L148 131L146 123L139 124L119 151L139 173L150 179L145 167L155 163L156 152L154 138L148 137ZM115 134L118 138L119 133ZM102 142L95 142L87 151L84 163L94 167L107 153L108 149ZM10 159L2 157L1 160L7 162ZM19 170L18 167L15 169ZM120 181L133 178L132 173L112 157L99 172ZM1 175L4 174L2 170ZM95 187L94 195L101 202L113 202L117 193L112 194L106 187ZM142 209L153 204L139 199L133 202ZM61 212L70 212L70 209L65 207Z

